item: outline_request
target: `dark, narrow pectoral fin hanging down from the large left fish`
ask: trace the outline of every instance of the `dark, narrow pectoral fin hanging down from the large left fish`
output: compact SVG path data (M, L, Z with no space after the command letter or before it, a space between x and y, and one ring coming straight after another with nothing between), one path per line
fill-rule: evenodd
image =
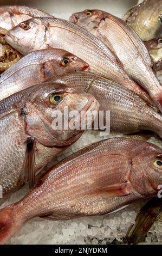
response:
M23 183L27 183L27 181L29 182L30 190L36 184L34 139L31 137L29 137L27 140L27 149L20 179Z

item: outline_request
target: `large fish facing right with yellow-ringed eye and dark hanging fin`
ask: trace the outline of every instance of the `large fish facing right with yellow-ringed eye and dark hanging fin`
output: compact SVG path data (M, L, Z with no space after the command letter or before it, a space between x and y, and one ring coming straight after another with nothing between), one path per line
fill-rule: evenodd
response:
M27 88L0 101L0 185L3 194L14 192L28 179L34 185L35 173L74 143L83 133L67 127L59 129L53 120L54 111L62 113L67 119L68 111L91 112L99 109L94 96L77 93L71 87L59 83L43 83ZM94 113L94 118L97 113ZM76 115L68 118L68 124L80 119ZM93 122L93 117L92 117ZM89 124L89 121L87 121Z

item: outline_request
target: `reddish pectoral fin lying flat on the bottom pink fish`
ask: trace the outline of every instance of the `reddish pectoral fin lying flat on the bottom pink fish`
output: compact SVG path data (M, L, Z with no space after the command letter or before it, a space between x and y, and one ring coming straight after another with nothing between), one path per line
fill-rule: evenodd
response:
M85 194L84 197L92 197L92 196L99 196L105 195L108 197L121 197L127 196L130 193L131 187L129 182L125 182L122 184L114 184L109 185L107 187L98 188L92 192Z

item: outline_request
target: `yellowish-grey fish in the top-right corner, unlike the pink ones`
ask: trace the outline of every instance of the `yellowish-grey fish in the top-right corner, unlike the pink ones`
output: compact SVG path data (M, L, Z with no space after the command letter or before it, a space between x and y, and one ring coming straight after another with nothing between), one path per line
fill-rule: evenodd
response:
M143 41L162 36L162 1L146 0L131 8L124 16Z

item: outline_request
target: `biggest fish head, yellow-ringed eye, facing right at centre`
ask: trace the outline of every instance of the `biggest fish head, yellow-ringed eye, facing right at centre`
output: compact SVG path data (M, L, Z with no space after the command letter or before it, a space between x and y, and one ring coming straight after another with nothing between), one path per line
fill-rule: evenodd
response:
M28 97L27 132L47 147L74 143L87 126L92 125L99 111L99 102L94 96L59 83L40 84Z

